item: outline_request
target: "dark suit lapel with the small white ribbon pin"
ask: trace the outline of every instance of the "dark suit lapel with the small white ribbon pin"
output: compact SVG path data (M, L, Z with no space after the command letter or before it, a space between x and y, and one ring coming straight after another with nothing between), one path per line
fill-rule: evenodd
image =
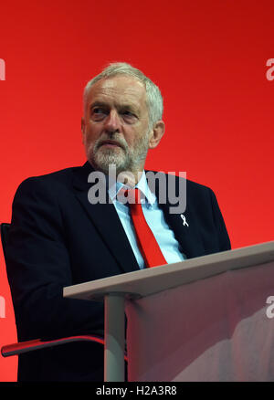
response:
M165 174L165 178L166 178ZM176 178L176 193L179 193L179 179ZM148 180L148 184L150 185L151 190L154 192L158 199L158 205L163 209L163 214L165 216L165 222L170 226L170 228L174 231L174 236L176 240L181 245L182 252L186 256L186 258L195 258L205 255L205 248L203 245L203 240L200 235L199 226L196 225L196 218L193 210L191 209L191 205L186 204L185 211L183 213L183 217L181 214L171 214L170 208L175 205L169 202L168 196L168 185L167 182L165 184L166 188L166 201L165 203L160 203L160 180L155 180L155 186L152 187ZM182 194L180 194L182 195ZM189 203L189 202L188 202Z

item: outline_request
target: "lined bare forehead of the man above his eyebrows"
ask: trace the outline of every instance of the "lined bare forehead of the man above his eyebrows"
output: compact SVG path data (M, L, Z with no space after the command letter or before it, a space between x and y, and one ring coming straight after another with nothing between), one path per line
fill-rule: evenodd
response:
M142 82L124 75L100 79L90 88L88 104L94 101L146 107L146 90Z

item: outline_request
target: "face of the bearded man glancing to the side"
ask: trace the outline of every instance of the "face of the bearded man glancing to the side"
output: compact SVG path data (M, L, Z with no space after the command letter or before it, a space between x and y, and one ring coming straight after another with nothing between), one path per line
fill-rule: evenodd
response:
M117 174L142 171L152 132L142 82L117 75L90 88L84 118L83 143L91 165L105 174L115 164Z

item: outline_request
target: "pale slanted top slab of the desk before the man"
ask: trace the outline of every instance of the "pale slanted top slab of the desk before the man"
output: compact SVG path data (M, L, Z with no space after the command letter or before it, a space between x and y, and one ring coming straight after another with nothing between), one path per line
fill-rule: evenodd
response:
M64 297L83 300L100 300L109 293L132 293L143 297L229 269L248 268L271 261L274 261L274 241L97 279L64 288L63 293Z

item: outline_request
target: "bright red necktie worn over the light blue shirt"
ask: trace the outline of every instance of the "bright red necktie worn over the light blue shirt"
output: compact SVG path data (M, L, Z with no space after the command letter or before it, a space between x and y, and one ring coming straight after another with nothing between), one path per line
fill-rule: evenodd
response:
M128 195L129 199L132 200L129 202L132 222L135 228L138 246L146 267L158 267L167 264L153 232L143 216L140 190L126 190L125 195Z

